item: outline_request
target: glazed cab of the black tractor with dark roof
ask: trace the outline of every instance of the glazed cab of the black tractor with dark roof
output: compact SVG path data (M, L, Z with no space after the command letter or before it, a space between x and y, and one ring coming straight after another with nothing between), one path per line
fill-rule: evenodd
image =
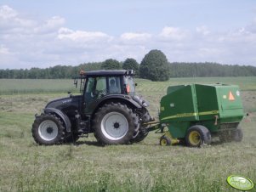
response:
M135 95L134 71L81 71L82 112L90 115L108 99L132 99ZM77 85L77 80L75 80Z

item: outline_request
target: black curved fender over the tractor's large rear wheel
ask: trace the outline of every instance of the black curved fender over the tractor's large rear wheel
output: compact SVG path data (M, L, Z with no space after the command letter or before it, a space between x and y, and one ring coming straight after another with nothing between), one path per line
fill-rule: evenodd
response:
M109 96L105 96L104 98L100 99L100 101L98 102L97 106L95 107L95 110L98 110L98 108L105 104L105 102L109 101L109 100L114 100L114 101L123 101L124 103L127 103L129 105L131 105L134 108L142 108L142 106L140 104L138 104L136 101L134 101L134 99L132 99L132 97L127 96L127 95L109 95Z

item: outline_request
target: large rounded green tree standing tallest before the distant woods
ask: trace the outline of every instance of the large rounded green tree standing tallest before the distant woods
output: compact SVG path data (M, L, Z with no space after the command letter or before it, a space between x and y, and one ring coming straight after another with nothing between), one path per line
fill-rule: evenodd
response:
M156 49L146 54L141 61L139 75L154 82L167 81L169 79L169 67L165 54Z

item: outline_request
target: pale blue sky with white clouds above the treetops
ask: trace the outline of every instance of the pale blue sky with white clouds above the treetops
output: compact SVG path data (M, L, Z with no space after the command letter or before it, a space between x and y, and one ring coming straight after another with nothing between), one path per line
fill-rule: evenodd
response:
M0 0L0 69L134 58L256 66L255 0Z

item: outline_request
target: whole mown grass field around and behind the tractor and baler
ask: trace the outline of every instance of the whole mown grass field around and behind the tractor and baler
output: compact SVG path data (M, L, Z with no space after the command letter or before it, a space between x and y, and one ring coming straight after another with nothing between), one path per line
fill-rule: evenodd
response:
M226 184L242 174L256 184L256 77L136 80L138 93L157 116L168 85L191 82L238 84L250 117L242 143L191 149L159 146L161 134L140 144L100 147L93 135L77 145L38 146L31 137L34 114L73 89L71 80L0 80L0 191L236 191ZM64 92L64 93L61 93ZM254 188L253 191L256 189Z

